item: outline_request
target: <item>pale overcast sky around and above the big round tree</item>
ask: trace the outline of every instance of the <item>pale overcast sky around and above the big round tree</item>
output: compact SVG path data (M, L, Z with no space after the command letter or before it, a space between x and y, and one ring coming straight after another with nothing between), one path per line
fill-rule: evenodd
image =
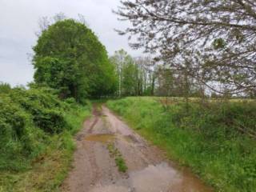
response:
M130 50L127 38L114 32L114 28L124 29L128 24L119 22L111 11L119 1L0 0L0 82L16 86L33 80L34 70L28 55L33 53L31 48L37 41L38 20L61 12L70 18L84 15L109 54L123 48L138 56L138 50Z

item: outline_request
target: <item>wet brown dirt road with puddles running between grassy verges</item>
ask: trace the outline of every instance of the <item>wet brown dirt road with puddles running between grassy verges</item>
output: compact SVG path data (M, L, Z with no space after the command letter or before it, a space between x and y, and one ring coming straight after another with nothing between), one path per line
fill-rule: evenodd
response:
M197 177L166 161L105 106L94 107L94 116L77 135L74 168L62 186L71 192L210 192ZM108 146L114 146L126 162L118 171Z

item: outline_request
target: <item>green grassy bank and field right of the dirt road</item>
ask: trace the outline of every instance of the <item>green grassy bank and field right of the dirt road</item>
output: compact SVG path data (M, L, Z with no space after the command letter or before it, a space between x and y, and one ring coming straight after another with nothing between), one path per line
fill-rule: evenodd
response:
M122 98L107 106L216 191L256 191L256 102Z

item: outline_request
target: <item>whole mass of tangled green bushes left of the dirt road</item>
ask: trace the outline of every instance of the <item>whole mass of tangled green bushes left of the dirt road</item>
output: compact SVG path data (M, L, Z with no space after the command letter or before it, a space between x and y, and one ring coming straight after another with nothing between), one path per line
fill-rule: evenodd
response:
M51 135L71 129L66 114L78 106L61 102L49 88L6 90L0 92L0 170L22 170L42 154Z

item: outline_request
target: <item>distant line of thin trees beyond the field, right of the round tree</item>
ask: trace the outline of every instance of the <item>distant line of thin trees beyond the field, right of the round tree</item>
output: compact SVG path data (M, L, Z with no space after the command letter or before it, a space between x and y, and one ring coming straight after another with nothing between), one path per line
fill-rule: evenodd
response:
M172 70L150 57L133 58L125 50L118 50L110 62L117 76L115 96L222 97L215 92L206 93L205 86L185 70Z

